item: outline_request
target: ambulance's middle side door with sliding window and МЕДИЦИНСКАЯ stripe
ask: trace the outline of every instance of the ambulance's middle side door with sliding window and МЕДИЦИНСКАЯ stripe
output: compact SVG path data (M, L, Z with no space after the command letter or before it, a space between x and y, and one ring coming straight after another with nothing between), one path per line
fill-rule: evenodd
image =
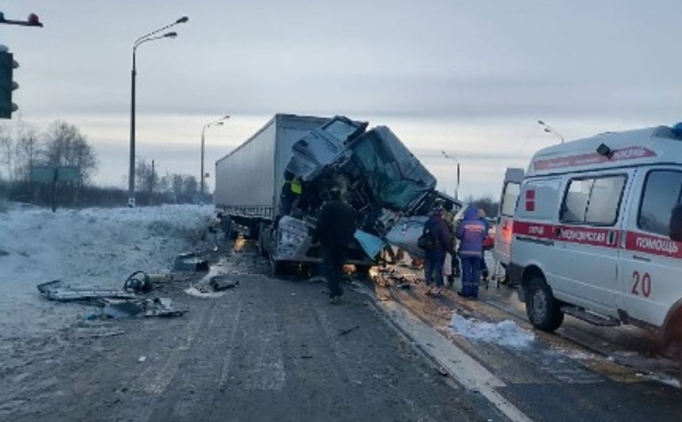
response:
M571 303L616 316L621 204L634 170L574 175L564 188L553 263L557 286Z

